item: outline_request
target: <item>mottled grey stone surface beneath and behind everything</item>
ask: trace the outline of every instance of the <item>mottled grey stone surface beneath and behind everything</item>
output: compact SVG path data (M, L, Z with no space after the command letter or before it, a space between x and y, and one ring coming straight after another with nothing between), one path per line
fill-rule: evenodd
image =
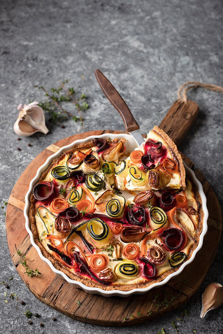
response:
M13 124L16 106L43 99L33 85L48 90L58 79L88 96L90 108L83 113L84 131L119 129L124 125L118 112L103 96L94 76L101 69L128 103L142 133L159 124L187 80L223 85L221 0L7 0L0 4L1 59L1 201L29 162L51 143L78 133L80 123L64 122L65 129L49 123L41 133L17 141ZM179 149L194 161L212 185L222 204L222 102L223 95L203 89L189 92L200 107L197 121ZM72 107L71 110L73 111ZM31 143L31 147L27 144ZM17 151L17 147L21 151ZM1 280L13 276L10 291L24 300L4 302L0 285L2 333L156 333L164 327L179 333L223 333L223 307L200 319L201 296L210 282L223 283L222 242L204 282L182 307L141 326L108 328L74 321L38 301L18 276L5 235L5 208L0 210ZM19 223L19 221L18 221ZM204 259L205 261L205 259ZM199 268L198 268L199 270ZM193 274L192 274L193 275ZM15 309L17 307L17 309ZM27 324L24 310L38 312ZM183 309L189 316L178 322ZM52 316L57 320L53 322ZM43 322L44 327L39 327Z

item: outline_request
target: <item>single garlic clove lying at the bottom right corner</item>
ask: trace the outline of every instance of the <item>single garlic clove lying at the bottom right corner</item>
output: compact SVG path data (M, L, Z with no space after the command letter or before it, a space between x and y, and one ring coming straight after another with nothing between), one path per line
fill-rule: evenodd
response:
M219 283L210 283L202 295L202 310L201 318L204 318L206 313L215 309L223 303L223 287Z

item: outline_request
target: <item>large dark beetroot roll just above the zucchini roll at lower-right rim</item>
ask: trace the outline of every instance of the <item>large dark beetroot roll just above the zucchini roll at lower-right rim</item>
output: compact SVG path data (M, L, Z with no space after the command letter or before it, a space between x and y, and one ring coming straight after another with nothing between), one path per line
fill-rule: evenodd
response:
M179 228L166 228L159 234L163 239L165 248L170 251L177 251L183 244L183 232Z

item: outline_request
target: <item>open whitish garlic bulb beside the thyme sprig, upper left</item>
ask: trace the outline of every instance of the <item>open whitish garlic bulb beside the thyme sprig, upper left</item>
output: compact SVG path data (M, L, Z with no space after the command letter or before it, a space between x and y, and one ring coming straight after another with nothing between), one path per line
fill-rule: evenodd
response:
M27 106L18 105L19 114L13 127L17 135L28 137L38 131L45 135L48 133L43 109L38 104L38 101L34 101Z

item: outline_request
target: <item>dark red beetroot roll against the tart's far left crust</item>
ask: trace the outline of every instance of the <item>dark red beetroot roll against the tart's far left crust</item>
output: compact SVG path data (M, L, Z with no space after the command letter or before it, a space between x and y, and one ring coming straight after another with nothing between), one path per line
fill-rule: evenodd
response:
M51 203L56 197L55 185L53 181L37 183L32 189L32 194L36 200L41 201L43 204Z

